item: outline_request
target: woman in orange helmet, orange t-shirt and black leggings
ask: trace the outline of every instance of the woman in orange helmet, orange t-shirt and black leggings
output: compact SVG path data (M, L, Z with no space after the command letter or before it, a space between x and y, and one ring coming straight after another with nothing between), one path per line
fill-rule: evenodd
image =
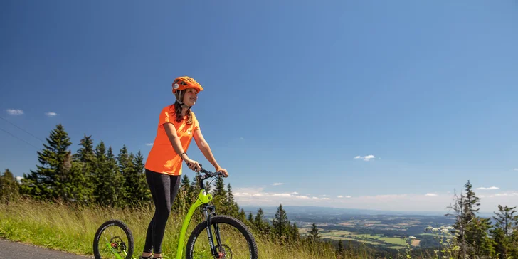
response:
M162 239L171 213L171 203L178 194L182 161L186 162L189 169L201 169L198 162L189 158L186 153L192 137L216 171L221 171L225 177L228 176L228 172L214 159L211 148L203 139L196 115L191 111L191 107L198 100L198 93L202 90L201 85L193 78L176 78L172 89L176 102L164 107L160 112L157 137L145 164L147 184L151 190L155 211L147 228L146 243L140 258L162 258Z

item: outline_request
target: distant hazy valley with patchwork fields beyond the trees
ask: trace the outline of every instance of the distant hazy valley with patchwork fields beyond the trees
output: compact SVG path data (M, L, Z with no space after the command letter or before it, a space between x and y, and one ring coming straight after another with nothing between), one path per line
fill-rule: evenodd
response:
M272 221L277 207L261 208L265 218ZM404 249L410 237L415 237L411 242L413 248L437 247L436 235L425 231L425 228L452 226L455 223L453 218L437 212L367 211L312 206L283 208L290 223L297 224L301 236L307 235L315 223L324 241L352 241L378 249ZM245 206L243 209L255 213L258 207Z

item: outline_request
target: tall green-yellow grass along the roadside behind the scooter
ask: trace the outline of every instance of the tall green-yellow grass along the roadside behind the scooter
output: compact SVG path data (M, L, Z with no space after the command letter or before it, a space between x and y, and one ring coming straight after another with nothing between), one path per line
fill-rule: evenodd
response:
M93 236L97 228L111 218L125 222L134 236L134 258L144 248L147 226L153 216L154 208L114 209L93 206L89 208L72 208L61 203L46 203L28 199L20 199L14 203L0 204L0 238L16 240L23 243L65 250L80 255L93 255ZM198 213L200 214L200 213ZM171 213L167 222L163 254L166 258L176 257L179 232L184 220L183 214ZM199 221L193 219L187 232ZM258 244L260 258L337 258L334 250L302 243L280 243L279 240L266 238L254 233ZM364 253L346 255L349 258L369 258Z

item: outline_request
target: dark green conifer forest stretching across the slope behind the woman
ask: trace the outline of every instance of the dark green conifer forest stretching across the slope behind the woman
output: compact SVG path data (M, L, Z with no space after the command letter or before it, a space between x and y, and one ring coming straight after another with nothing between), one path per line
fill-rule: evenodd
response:
M70 206L108 206L112 208L153 208L151 194L144 175L144 159L140 152L129 152L125 146L114 153L112 147L100 141L94 144L92 136L80 139L77 152L70 151L72 142L63 125L57 125L38 151L35 170L23 174L16 181L14 174L5 169L0 176L0 199L3 203L16 202L17 199L68 203ZM197 173L199 174L199 173ZM349 253L362 253L385 256L388 250L376 250L369 245L354 241L321 240L319 229L313 223L311 231L301 236L296 223L291 223L282 204L277 208L275 217L264 218L261 208L255 215L245 213L234 200L231 184L217 178L215 184L206 186L213 194L213 203L218 213L239 218L254 233L275 242L305 243L317 249L335 250L337 256ZM465 189L450 205L452 213L445 216L455 218L453 226L429 228L440 238L440 250L428 249L430 255L448 255L450 258L518 258L518 215L516 206L498 206L492 218L477 216L480 198L472 190L470 181ZM172 206L172 213L185 213L199 193L196 177L192 180L184 174L179 194ZM495 208L496 210L496 208ZM411 243L412 237L408 237ZM423 254L423 250L410 248L409 255ZM350 256L350 255L349 255Z

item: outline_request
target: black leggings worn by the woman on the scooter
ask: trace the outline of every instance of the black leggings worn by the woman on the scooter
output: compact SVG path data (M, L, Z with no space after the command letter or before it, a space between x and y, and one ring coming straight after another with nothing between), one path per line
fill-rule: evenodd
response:
M167 218L171 213L171 204L178 194L181 179L180 176L159 174L146 169L146 180L151 190L155 211L147 227L144 253L162 253L162 239L164 239Z

